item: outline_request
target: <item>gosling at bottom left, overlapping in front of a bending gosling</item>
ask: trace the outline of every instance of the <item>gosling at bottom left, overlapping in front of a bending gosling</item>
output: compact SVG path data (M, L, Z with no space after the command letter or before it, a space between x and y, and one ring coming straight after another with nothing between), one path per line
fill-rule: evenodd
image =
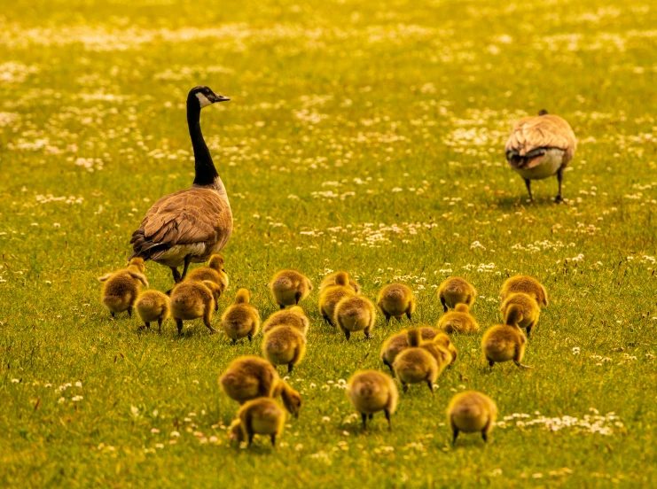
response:
M285 411L277 401L269 398L249 400L239 408L237 418L228 429L229 437L238 442L248 439L254 441L254 435L269 435L271 446L276 448L276 438L283 433Z

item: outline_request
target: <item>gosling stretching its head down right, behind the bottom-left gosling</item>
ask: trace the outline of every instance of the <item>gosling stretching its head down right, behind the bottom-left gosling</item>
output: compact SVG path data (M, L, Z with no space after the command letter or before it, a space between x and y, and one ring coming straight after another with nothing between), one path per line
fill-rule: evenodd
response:
M223 392L239 404L247 400L280 396L285 409L294 417L301 411L301 394L278 376L269 361L256 356L241 356L231 361L219 377Z

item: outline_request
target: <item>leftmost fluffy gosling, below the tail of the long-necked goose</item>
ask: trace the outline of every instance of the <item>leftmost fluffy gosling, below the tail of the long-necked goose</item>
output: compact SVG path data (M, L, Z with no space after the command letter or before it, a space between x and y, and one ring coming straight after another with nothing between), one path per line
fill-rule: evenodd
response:
M128 311L129 317L132 317L132 308L135 306L142 284L148 287L144 270L144 260L133 258L128 268L98 277L98 282L103 283L101 291L103 306L109 309L112 317L123 311Z

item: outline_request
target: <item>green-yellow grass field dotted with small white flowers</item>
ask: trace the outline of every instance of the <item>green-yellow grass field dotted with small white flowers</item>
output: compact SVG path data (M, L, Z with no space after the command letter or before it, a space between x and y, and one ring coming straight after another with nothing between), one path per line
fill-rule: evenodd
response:
M0 485L474 487L657 485L657 8L650 2L483 0L4 1L0 12ZM96 277L125 266L153 202L192 182L184 99L231 102L201 125L235 230L231 288L263 317L266 283L346 269L374 298L409 283L418 322L464 276L473 314L498 321L516 273L546 285L525 362L489 371L481 333L434 395L403 395L367 434L340 388L384 369L381 342L304 306L304 396L276 451L230 446L237 410L217 383L252 345L138 334L112 321ZM580 144L529 205L506 167L513 120L545 108ZM167 268L148 263L167 290ZM218 321L218 316L215 318ZM79 383L79 384L78 384ZM500 411L487 446L450 445L454 392ZM576 419L575 419L576 418ZM176 436L176 433L179 436Z

